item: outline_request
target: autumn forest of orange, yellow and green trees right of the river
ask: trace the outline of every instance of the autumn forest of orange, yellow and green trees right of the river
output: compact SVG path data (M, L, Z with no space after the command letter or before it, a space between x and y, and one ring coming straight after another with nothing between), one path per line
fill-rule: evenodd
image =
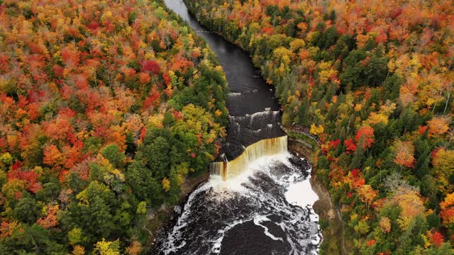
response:
M318 138L344 249L454 254L453 1L185 2L250 52L282 124Z

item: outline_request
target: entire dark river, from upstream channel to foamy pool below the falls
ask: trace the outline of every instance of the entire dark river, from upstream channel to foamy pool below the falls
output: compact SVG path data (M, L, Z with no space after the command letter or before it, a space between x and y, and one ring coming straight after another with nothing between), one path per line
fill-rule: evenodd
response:
M226 73L230 116L221 157L236 159L270 138L281 143L275 154L251 159L238 176L227 181L211 176L196 188L182 207L175 207L175 219L160 231L150 254L318 254L321 232L311 208L317 200L309 183L311 166L287 152L272 87L247 52L206 31L182 0L165 4L205 38Z

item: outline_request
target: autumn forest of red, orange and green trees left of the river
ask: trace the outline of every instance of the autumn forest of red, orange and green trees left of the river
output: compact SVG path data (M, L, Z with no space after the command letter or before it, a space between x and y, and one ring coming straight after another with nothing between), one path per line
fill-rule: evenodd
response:
M162 1L0 0L0 254L143 254L218 154L226 88Z

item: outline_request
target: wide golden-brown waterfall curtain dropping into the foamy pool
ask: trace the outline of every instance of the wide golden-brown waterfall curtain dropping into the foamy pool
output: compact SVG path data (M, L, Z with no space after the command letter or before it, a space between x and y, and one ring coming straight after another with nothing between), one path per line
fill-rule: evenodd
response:
M223 181L232 179L248 169L248 164L262 156L270 156L287 152L287 135L260 140L249 145L245 151L230 162L213 162L210 164L210 174L221 176Z

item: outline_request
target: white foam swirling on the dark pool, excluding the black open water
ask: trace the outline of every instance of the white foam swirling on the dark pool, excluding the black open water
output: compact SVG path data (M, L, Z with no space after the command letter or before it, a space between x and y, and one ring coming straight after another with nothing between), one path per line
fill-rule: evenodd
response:
M317 224L319 217L311 208L311 205L314 203L312 201L315 201L317 198L316 194L314 193L315 196L311 194L310 200L309 198L303 199L300 198L301 196L295 195L302 193L306 196L306 194L313 193L313 191L309 179L306 179L304 174L301 174L301 168L299 166L294 166L289 161L289 157L291 155L288 152L260 157L248 164L248 171L243 171L242 174L228 179L228 181L222 181L221 176L211 176L208 182L197 188L189 196L187 204L184 205L182 215L179 216L177 224L173 227L172 231L167 234L167 239L161 251L164 251L166 255L183 251L187 249L184 246L191 246L194 239L198 239L199 241L197 242L204 240L203 242L209 245L209 251L211 253L219 254L221 253L221 249L223 249L222 242L226 233L233 227L249 221L253 221L255 225L261 227L263 233L270 238L270 242L278 241L288 243L292 249L289 251L289 254L301 254L301 247L320 244L322 237L319 231L319 225ZM289 170L276 172L277 169L280 169L276 167L278 164L284 164ZM286 198L287 202L282 200L282 197L275 197L273 193L264 192L260 186L257 186L257 181L263 178L263 174L269 176L279 186L284 188L282 195ZM301 183L305 184L301 185ZM214 234L209 236L198 233L196 236L189 237L194 239L182 239L183 234L187 236L188 233L193 231L192 217L196 214L192 212L192 209L195 209L192 208L192 205L200 202L195 196L204 191L209 192L209 196L204 197L204 204L208 208L212 208L211 210L214 212L218 210L217 208L222 208L223 205L228 204L229 200L238 199L248 201L248 207L257 208L258 210L250 214L228 215L227 218L223 219L225 222L222 223L222 226ZM289 203L297 205L297 208L289 207ZM277 212L278 215L282 215L284 218L282 221L275 222L268 217L269 212ZM308 217L309 220L306 220ZM289 234L286 234L284 239L282 237L276 237L262 223L267 221L277 225L285 233L298 232L300 236L297 239L291 237ZM304 232L301 232L301 229L304 229ZM205 251L193 250L192 252L203 254ZM311 251L311 254L318 254L318 249Z

